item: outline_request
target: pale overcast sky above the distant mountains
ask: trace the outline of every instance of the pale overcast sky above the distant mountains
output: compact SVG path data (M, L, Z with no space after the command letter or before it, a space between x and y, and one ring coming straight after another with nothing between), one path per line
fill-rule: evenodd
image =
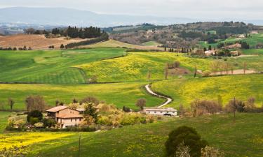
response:
M62 7L116 15L262 20L262 0L0 0L0 8Z

